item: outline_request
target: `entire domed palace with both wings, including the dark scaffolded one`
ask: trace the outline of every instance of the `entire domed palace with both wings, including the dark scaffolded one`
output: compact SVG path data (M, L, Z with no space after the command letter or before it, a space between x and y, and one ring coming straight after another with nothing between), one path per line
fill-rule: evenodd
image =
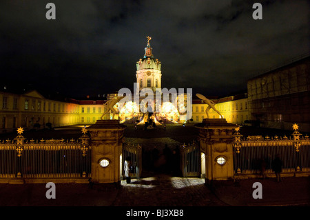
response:
M114 115L121 123L145 123L153 119L155 123L200 123L207 117L207 104L194 95L192 103L187 103L187 94L176 94L178 108L172 104L173 94L163 99L161 84L161 62L152 54L152 47L147 46L143 59L136 62L136 92L148 89L154 92L143 108L155 108L154 114L143 113L134 102L127 101ZM309 54L291 63L249 79L247 92L229 97L208 97L216 103L216 109L229 123L253 123L266 128L291 129L292 123L298 123L300 131L310 132L310 77ZM161 102L156 103L159 93ZM186 91L184 91L186 92ZM23 127L25 130L72 125L90 125L101 119L105 112L105 103L117 94L107 94L106 100L56 100L43 97L37 90L24 93L9 92L8 88L0 91L0 132L12 132ZM138 101L145 96L138 97ZM184 100L180 104L180 100ZM157 106L156 106L157 105ZM183 106L182 106L183 105ZM141 106L141 105L140 105ZM143 106L143 105L142 105ZM118 103L114 106L118 109ZM187 118L182 108L192 108L192 117ZM209 118L219 118L214 110L209 111ZM112 119L112 112L103 119Z

